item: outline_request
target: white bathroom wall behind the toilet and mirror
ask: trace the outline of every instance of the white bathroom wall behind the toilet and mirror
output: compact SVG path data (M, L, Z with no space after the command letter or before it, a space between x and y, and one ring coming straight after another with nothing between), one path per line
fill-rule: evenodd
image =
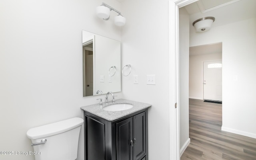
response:
M119 2L105 0L117 10ZM112 19L96 17L101 0L0 1L0 151L32 151L28 129L72 117L81 106L98 103L83 97L82 29L121 40ZM117 93L122 98L121 93ZM78 160L84 160L84 132ZM0 155L33 160L32 155Z

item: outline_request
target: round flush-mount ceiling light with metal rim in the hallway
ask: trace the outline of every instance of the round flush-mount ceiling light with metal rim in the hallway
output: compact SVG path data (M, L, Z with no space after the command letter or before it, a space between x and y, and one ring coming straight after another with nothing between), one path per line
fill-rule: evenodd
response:
M214 17L204 17L194 21L192 25L197 32L208 31L214 21Z

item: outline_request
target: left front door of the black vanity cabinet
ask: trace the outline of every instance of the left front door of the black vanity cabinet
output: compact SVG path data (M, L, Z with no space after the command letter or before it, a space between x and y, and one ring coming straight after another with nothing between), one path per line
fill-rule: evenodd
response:
M132 160L132 117L116 123L116 160Z

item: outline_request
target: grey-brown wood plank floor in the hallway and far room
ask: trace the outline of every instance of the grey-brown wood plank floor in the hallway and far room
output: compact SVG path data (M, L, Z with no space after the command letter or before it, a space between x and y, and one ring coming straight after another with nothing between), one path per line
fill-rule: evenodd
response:
M190 99L191 142L180 160L256 160L256 139L221 131L221 125L222 104Z

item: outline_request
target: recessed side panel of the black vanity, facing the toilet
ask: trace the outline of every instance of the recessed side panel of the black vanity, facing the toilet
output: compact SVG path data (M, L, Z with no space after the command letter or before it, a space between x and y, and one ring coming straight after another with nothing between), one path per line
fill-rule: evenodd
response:
M105 125L85 116L85 159L105 160Z

